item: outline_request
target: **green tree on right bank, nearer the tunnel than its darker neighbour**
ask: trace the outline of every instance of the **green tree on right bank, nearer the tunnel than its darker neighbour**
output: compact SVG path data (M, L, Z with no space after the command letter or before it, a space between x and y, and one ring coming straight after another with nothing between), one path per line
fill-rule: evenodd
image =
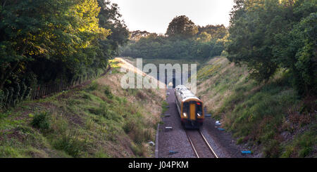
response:
M277 0L244 1L243 5L237 4L231 14L230 36L226 45L228 59L237 64L247 64L251 77L257 81L268 81L278 69L272 58L272 45L273 34L278 32L278 22L275 21L279 21L283 13L276 3Z

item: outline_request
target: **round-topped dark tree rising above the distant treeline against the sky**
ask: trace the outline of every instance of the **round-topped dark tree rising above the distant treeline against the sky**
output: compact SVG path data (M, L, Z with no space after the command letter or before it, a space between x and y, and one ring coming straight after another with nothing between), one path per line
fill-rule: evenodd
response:
M166 35L168 37L178 37L188 39L194 37L198 32L198 27L189 20L187 16L180 15L176 16L168 25Z

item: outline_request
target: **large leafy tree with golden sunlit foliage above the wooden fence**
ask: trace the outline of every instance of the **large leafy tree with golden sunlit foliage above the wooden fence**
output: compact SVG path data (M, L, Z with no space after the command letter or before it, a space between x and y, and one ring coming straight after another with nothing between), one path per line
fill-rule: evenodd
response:
M99 10L97 0L1 1L0 89L38 60L62 66L56 73L90 66L97 58L97 39L110 34L99 27Z

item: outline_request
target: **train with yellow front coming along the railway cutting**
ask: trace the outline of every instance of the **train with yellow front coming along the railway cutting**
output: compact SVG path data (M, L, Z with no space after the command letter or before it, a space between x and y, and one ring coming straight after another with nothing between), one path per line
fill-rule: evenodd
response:
M175 104L185 128L199 128L204 123L203 102L186 86L175 87Z

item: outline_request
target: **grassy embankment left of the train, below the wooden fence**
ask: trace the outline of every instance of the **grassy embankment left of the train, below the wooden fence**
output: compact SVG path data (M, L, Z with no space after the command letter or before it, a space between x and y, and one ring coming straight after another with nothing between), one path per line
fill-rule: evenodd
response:
M124 90L119 70L1 112L0 157L154 157L165 91Z

